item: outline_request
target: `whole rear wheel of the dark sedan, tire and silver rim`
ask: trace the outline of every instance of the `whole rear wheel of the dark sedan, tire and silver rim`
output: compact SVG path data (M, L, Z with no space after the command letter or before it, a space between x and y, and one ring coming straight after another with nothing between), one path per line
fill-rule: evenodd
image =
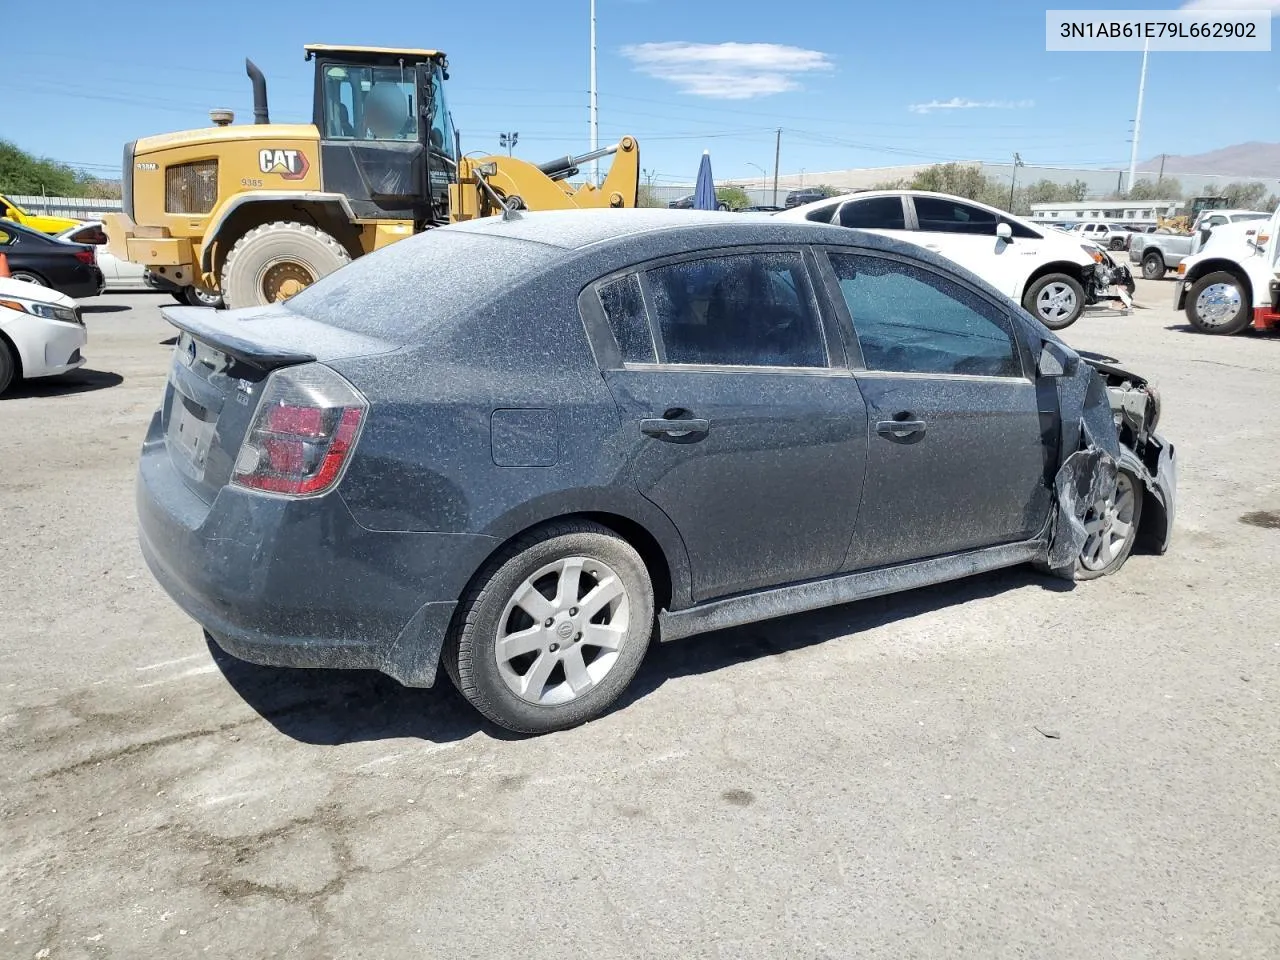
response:
M653 623L653 585L631 544L598 524L550 524L476 577L444 667L498 726L547 733L608 709L640 668Z

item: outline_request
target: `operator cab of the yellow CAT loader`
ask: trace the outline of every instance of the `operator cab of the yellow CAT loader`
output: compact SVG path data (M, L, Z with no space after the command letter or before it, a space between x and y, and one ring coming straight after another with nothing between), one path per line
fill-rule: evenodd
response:
M436 50L314 44L321 187L357 219L448 223L454 178L448 63Z

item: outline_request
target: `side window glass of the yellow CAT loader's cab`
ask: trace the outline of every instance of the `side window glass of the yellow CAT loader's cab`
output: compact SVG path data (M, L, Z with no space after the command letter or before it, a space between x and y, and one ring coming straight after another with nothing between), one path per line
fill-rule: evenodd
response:
M330 64L324 68L328 140L417 140L412 68Z

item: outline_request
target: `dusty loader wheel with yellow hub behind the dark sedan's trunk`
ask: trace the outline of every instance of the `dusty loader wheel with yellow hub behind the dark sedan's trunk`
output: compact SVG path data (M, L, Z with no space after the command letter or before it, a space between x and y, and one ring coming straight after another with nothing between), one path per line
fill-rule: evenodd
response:
M324 230L293 220L255 227L232 247L223 264L228 307L288 300L321 276L351 262L351 255Z

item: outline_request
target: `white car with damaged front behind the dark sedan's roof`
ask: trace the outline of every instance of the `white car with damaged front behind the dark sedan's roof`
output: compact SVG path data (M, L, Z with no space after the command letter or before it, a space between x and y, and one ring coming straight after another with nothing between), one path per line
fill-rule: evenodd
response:
M867 191L774 216L851 227L932 250L1020 302L1052 330L1070 326L1085 305L1107 298L1111 283L1096 244L947 193Z

